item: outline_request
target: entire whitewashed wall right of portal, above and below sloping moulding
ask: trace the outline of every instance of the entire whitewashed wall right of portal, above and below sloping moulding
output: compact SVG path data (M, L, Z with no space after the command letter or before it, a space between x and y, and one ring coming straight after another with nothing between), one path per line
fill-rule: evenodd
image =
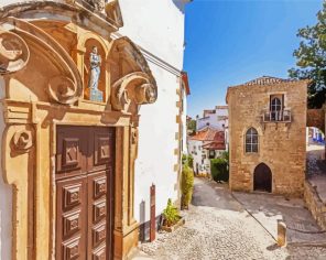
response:
M142 106L140 111L134 215L137 220L144 223L150 219L152 183L156 185L156 215L162 213L167 198L177 199L177 173L173 170L177 163L177 156L174 155L174 149L177 148L175 133L178 131L176 89L181 83L174 73L182 71L183 67L184 4L181 0L120 0L119 2L124 22L119 32L162 59L161 64L149 59L159 87L157 101ZM167 65L163 66L164 63ZM172 67L175 67L176 72L173 73L175 69Z

